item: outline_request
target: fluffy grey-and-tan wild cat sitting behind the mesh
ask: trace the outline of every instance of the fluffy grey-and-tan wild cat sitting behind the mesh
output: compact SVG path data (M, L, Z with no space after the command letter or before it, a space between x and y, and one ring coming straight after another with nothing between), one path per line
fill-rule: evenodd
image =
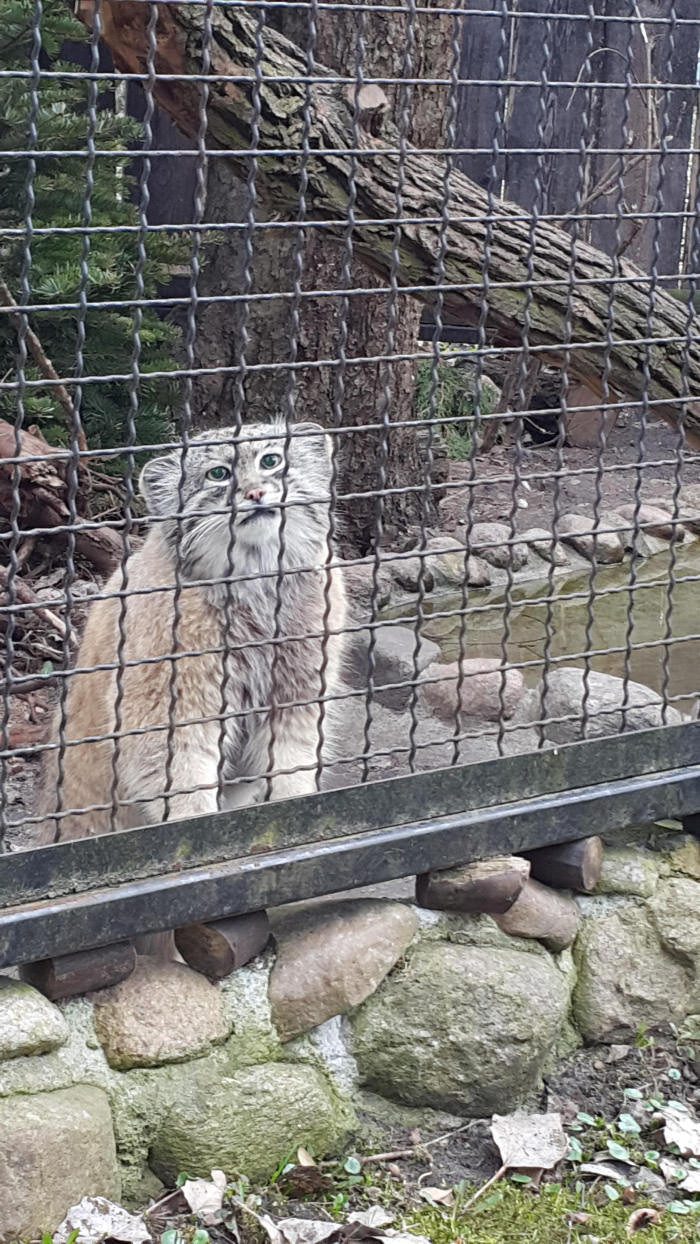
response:
M318 699L338 689L346 618L325 569L329 483L328 438L310 423L219 429L144 466L154 521L126 583L117 571L91 610L67 745L44 773L46 840L257 802L270 768L274 799L316 789ZM331 700L327 743L336 718Z

